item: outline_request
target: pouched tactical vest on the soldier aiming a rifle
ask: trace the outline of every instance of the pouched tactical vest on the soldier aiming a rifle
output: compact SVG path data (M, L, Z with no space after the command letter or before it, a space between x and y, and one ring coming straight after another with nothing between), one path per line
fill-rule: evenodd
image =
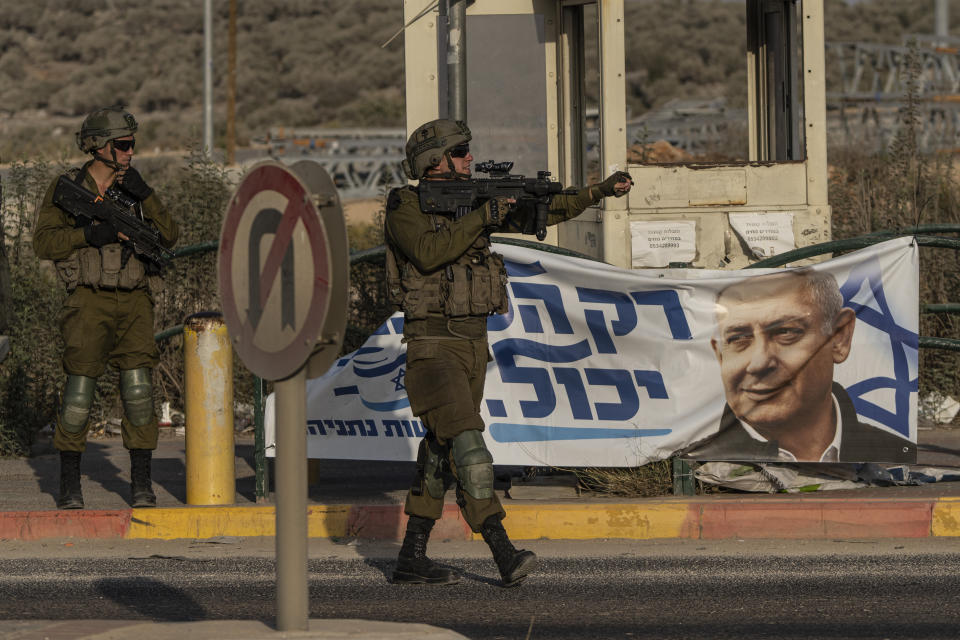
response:
M445 216L430 217L437 230L450 225ZM490 251L490 238L485 235L455 262L427 274L388 244L386 271L388 299L408 320L430 315L488 316L508 309L507 270L503 258Z

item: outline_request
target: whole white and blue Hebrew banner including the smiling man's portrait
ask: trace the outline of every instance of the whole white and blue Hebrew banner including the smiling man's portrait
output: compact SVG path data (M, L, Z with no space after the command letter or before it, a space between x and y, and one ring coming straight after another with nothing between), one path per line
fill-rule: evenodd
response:
M626 270L494 249L510 295L508 313L487 323L481 415L497 464L638 466L704 450L732 460L915 456L910 238L803 269L743 271ZM310 457L415 459L425 430L410 413L402 336L397 314L307 382ZM273 396L266 432L272 455Z

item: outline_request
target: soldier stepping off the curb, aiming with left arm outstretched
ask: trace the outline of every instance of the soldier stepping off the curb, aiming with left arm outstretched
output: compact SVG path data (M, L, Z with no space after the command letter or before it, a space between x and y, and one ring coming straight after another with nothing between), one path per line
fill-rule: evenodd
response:
M470 178L470 130L461 121L434 120L413 132L403 168L413 180ZM607 196L622 196L633 181L616 172L576 195L553 198L548 224L569 220ZM407 494L410 516L393 581L450 584L459 576L426 556L427 540L443 510L447 479L456 481L464 519L489 545L506 587L536 566L532 551L511 544L506 516L493 492L493 456L483 440L480 402L490 361L487 317L507 311L507 273L490 251L489 234L528 228L533 207L497 197L452 219L420 209L416 187L394 189L387 200L387 288L403 309L407 396L427 435Z

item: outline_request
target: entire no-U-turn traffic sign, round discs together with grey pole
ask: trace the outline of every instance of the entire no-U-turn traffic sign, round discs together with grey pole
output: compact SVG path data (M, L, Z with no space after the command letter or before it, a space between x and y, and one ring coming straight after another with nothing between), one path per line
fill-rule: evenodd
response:
M261 162L244 174L227 205L217 256L223 318L237 355L252 373L276 381L279 631L307 631L310 624L307 378L336 360L350 282L336 185L319 164L297 165L294 173Z

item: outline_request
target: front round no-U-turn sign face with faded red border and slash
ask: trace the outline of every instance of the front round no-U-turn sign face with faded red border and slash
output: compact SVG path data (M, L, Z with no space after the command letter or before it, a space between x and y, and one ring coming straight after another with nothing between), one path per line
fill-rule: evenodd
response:
M296 175L276 162L251 167L230 199L217 275L237 354L267 380L310 357L330 303L330 247L323 220Z

